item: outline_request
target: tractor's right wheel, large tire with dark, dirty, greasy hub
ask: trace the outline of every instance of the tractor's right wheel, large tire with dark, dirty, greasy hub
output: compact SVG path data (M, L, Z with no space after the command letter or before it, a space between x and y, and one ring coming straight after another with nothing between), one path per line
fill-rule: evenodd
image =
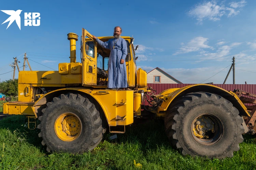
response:
M166 133L183 155L232 157L243 142L243 120L232 103L207 92L187 94L167 110Z

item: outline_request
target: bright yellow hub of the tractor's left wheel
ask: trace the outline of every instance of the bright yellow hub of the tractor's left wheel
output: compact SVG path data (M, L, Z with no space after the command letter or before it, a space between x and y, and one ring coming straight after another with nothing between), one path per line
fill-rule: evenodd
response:
M63 113L55 121L56 135L63 141L73 141L81 133L81 121L72 113Z

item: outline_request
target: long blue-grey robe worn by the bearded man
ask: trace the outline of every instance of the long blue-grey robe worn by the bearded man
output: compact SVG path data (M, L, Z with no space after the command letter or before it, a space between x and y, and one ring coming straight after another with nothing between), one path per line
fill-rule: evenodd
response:
M125 61L127 55L127 43L125 39L120 37L119 39L113 38L103 42L97 38L96 42L101 47L111 50L108 65L108 88L128 87L126 63L120 64L120 60L123 59Z

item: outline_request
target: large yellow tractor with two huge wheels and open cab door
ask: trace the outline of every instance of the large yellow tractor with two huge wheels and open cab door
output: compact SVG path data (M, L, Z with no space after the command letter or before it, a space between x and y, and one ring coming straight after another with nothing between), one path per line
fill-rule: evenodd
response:
M134 38L123 38L129 88L107 89L110 50L82 29L81 61L76 60L78 36L69 33L70 63L59 63L58 71L20 71L18 101L4 103L4 114L26 115L29 129L41 130L39 137L48 152L90 151L107 128L125 133L134 120L163 119L171 145L182 154L232 157L248 131L243 117L251 117L239 97L209 84L154 95L147 87L147 73L136 67ZM150 105L143 105L145 100ZM36 119L40 124L35 125Z

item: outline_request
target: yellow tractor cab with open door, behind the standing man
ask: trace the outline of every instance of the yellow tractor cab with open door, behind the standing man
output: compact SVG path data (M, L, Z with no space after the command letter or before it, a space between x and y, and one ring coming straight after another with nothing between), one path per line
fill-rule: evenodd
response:
M134 38L128 36L121 37L124 38L127 43L128 54L125 59L125 64L128 86L132 88L136 86L137 78L136 56L133 47ZM113 36L98 38L105 42L112 39ZM110 50L102 48L88 31L82 29L81 60L83 65L83 86L103 87L108 84L109 56Z

